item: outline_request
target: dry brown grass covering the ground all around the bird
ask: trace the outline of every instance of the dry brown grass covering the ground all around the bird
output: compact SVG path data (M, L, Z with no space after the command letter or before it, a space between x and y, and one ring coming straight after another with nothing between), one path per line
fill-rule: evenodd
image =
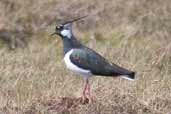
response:
M0 43L0 113L171 113L170 4L169 0L1 0L0 28L32 36L24 49L9 51ZM88 13L96 15L74 24L76 36L137 75L134 82L92 77L94 101L82 105L82 78L66 70L61 40L49 34L56 21Z

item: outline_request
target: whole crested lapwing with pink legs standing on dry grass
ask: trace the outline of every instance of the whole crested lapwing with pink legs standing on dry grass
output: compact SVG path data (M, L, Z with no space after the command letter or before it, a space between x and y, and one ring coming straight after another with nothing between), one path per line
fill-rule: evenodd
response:
M94 50L80 43L72 32L72 23L81 18L60 23L52 35L58 35L63 41L64 61L68 69L84 77L83 99L90 98L89 78L93 75L123 77L134 80L135 72L109 62ZM89 98L86 96L88 94Z

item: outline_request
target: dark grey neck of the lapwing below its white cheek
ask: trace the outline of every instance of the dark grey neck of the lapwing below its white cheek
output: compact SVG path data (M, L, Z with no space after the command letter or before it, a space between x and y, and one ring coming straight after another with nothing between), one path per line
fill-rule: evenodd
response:
M72 35L71 38L66 36L62 38L64 55L73 48L79 48L82 44Z

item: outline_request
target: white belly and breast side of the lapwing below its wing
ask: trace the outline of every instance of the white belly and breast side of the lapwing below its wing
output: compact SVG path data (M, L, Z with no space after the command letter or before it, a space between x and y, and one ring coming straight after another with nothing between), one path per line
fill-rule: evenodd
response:
M65 61L67 68L77 74L81 74L84 76L90 76L91 75L90 70L85 70L85 69L79 68L78 66L74 65L71 62L70 55L72 54L72 52L73 52L73 49L71 49L69 52L67 52L64 57L64 61Z

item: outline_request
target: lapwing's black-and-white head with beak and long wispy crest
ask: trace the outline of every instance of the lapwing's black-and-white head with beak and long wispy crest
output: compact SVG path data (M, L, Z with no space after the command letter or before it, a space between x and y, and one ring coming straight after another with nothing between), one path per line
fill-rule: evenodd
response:
M55 28L55 32L52 35L59 35L61 37L67 37L70 39L72 37L72 23L85 17L87 16L83 16L80 18L73 19L71 21L58 24Z

